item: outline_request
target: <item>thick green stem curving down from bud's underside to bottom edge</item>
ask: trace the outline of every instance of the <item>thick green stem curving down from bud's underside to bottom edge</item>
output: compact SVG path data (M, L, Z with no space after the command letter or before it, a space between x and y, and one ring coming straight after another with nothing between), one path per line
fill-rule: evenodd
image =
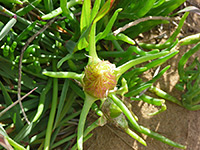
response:
M83 131L84 131L84 126L85 126L85 121L87 118L87 114L92 106L92 104L95 102L96 98L92 97L88 94L85 93L85 102L83 105L83 109L81 111L80 119L79 119L79 124L78 124L78 134L77 134L77 145L78 145L78 150L83 149Z

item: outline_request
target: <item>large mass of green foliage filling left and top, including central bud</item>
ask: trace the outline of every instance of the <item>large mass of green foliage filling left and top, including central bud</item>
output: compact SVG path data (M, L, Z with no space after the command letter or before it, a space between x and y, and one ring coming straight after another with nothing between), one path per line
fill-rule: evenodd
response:
M157 24L169 23L169 18L163 16L184 1L9 0L3 3L8 9L0 5L1 104L6 108L15 99L22 104L21 108L16 105L1 113L5 143L7 140L16 149L47 150L58 146L82 149L83 142L92 135L90 131L111 118L143 145L146 142L134 130L184 149L185 146L139 125L136 115L124 103L124 97L130 97L161 107L151 115L166 109L163 99L150 97L143 91L148 88L155 91L153 83L170 66L147 82L139 75L178 53L175 48L180 42L174 40L188 13L164 44L138 43L138 47L133 38ZM122 27L130 20L136 22L128 28ZM120 27L122 30L112 31ZM143 67L136 66L148 60L152 61ZM32 93L27 95L30 90ZM103 110L105 106L108 112ZM99 118L84 128L90 108Z

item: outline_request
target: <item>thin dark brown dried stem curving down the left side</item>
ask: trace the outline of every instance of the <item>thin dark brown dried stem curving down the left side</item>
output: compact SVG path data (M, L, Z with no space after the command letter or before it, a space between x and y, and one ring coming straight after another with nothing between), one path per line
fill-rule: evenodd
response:
M21 99L21 79L22 79L22 75L21 75L21 72L22 72L22 59L23 59L23 55L24 55L24 52L25 50L27 49L28 45L39 35L41 34L42 32L44 32L55 20L56 20L57 17L53 18L52 20L50 20L43 28L41 28L37 33L35 33L32 37L30 37L28 39L28 41L26 42L26 44L24 45L24 47L22 48L22 51L21 51L21 55L20 55L20 58L19 58L19 72L18 72L18 93L17 93L17 96L18 96L18 99ZM26 114L25 114L25 111L24 111L24 108L22 106L22 103L21 101L19 101L19 105L21 107L21 110L22 110L22 113L24 115L24 118L26 120L26 122L28 124L30 124Z

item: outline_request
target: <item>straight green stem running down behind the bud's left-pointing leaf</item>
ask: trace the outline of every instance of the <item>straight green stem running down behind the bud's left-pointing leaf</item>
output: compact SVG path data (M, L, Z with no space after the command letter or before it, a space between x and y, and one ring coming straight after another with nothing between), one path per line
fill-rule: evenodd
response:
M53 65L53 70L56 71L56 61L55 60L53 60L52 65ZM53 79L52 105L51 105L51 112L50 112L49 121L48 121L48 125L47 125L46 136L45 136L44 150L50 149L50 140L51 140L53 122L54 122L55 113L56 113L57 98L58 98L58 79L55 78L55 79Z

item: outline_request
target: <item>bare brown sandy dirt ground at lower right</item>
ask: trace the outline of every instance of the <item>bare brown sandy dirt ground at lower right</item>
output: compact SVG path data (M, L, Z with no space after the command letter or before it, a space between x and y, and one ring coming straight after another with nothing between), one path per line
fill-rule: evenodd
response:
M197 7L200 6L198 0L193 1L192 4ZM200 16L191 13L182 33L183 35L194 34L198 33L199 29ZM174 88L179 80L178 61L191 47L182 47L178 55L164 64L165 66L171 65L171 68L155 84L155 86L176 98L181 97L181 93ZM200 56L200 52L196 56ZM152 73L149 72L144 77L151 78ZM167 110L165 112L156 116L149 116L149 113L157 110L155 106L144 102L134 102L133 112L138 116L140 125L186 145L187 150L200 150L200 111L188 111L168 101L166 101L166 105ZM178 150L150 137L142 136L147 142L147 147L145 147L120 129L109 124L98 127L93 131L93 134L92 138L84 144L85 150Z

